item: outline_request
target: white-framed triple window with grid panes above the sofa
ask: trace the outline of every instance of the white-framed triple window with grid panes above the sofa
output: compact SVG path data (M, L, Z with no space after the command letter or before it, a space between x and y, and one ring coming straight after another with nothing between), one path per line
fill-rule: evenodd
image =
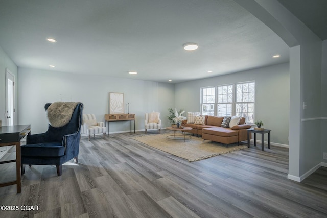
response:
M201 88L201 114L242 116L254 121L255 82Z

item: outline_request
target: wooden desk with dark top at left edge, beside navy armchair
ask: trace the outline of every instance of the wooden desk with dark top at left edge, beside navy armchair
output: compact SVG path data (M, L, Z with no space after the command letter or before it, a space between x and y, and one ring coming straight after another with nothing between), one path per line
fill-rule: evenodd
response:
M21 158L20 140L31 134L31 125L14 125L0 127L0 147L16 146L16 159L0 161L0 164L16 162L16 181L0 183L0 187L17 184L17 193L21 192Z

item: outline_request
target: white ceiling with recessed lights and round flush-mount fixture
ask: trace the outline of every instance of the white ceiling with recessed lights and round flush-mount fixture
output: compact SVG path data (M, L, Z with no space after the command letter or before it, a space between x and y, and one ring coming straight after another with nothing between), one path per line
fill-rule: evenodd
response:
M231 0L0 5L0 46L19 67L178 83L289 61L284 41Z

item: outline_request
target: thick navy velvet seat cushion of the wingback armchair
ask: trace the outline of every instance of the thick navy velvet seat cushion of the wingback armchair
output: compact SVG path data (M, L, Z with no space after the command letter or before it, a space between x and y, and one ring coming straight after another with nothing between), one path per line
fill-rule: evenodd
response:
M20 149L21 156L59 157L65 155L65 147L62 146L61 142L25 144Z

